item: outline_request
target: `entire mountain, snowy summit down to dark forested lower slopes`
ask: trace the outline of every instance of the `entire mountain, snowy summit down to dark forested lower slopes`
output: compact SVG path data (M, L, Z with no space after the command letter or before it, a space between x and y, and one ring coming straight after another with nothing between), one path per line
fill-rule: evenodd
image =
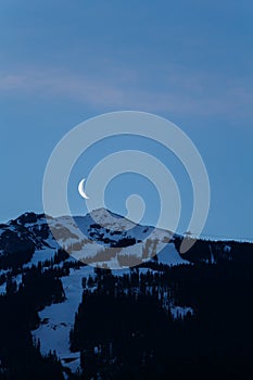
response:
M182 238L104 208L1 224L0 379L198 378L210 363L241 375L253 244L199 239L182 255Z

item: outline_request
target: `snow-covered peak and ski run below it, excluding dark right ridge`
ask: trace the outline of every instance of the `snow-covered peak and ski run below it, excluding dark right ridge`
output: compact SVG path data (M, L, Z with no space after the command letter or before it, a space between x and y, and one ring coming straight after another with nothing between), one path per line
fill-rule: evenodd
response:
M150 236L152 239L149 239ZM61 246L71 251L72 255L55 264L53 261ZM76 258L85 256L87 262L89 257L96 257L101 252L106 254L112 249L115 254L110 259L91 259L92 266L72 267ZM157 256L156 251L160 252ZM62 364L74 371L79 366L79 355L69 351L69 331L81 301L83 279L94 278L98 264L106 264L114 276L129 275L129 262L123 261L129 255L138 257L134 264L146 263L147 259L164 265L189 264L177 252L169 231L136 225L104 208L74 218L25 213L0 225L0 293L7 291L9 275L18 287L22 275L33 265L41 265L47 270L49 263L54 263L53 267L62 267L63 262L69 263L69 274L61 277L65 302L52 303L39 312L41 324L34 331L34 337L40 340L42 354L55 351ZM143 267L139 270L146 274L152 269Z

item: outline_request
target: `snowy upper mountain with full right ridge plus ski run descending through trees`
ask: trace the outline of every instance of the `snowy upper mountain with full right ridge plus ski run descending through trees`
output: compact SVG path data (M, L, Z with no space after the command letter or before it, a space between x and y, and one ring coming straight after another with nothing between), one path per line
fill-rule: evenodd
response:
M250 243L199 240L182 256L181 240L181 236L136 225L104 208L74 218L25 213L0 225L0 294L4 299L4 294L22 292L24 279L33 274L61 279L62 294L58 300L53 295L51 299L50 288L47 302L39 305L33 337L36 342L39 340L43 355L55 351L67 379L67 371L80 368L80 353L71 351L69 335L84 292L94 294L101 286L97 266L110 268L118 283L121 278L123 282L130 281L132 294L140 292L140 283L148 294L154 292L163 308L176 319L194 315L195 311L190 303L176 301L173 281L172 286L161 284L168 270L177 270L178 265L182 265L182 270L194 269L189 264L200 262L216 265L239 258L252 261ZM127 294L129 289L123 289Z

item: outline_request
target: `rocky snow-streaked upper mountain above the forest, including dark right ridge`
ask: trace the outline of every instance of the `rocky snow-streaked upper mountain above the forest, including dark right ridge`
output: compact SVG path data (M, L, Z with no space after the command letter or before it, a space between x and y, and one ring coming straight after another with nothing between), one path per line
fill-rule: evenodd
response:
M55 241L55 238L58 242ZM190 237L188 237L190 239ZM138 264L156 257L167 265L217 262L237 256L237 241L211 241L199 239L186 254L180 254L182 237L151 226L136 225L121 215L100 208L86 216L62 216L52 218L43 214L25 213L8 224L0 225L0 268L9 266L9 261L18 264L37 264L50 259L55 250L63 246L72 256L93 265L109 265L112 269L128 267L118 263L118 256L126 257L129 252ZM59 245L60 243L60 245ZM248 243L251 246L250 243ZM129 250L131 246L131 250ZM102 251L114 250L115 256L103 262L96 257ZM242 254L241 254L242 256ZM250 256L249 256L250 257ZM237 257L239 258L239 257ZM245 259L245 257L243 258ZM131 263L130 263L131 264Z

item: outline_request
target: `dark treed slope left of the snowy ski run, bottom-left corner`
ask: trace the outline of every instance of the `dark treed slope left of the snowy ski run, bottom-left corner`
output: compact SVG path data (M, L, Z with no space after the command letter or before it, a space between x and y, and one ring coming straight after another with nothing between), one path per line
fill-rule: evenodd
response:
M7 294L0 296L0 379L63 379L55 353L42 356L31 337L39 324L38 311L62 301L64 292L54 270L33 267L18 288L8 279Z

